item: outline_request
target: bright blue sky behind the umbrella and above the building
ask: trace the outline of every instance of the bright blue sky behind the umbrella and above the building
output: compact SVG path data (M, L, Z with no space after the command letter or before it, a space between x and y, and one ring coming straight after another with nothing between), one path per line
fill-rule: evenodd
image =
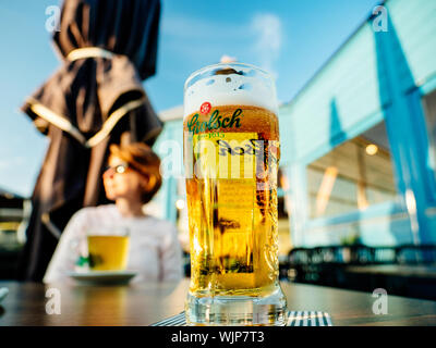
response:
M183 102L183 83L223 54L259 65L288 102L379 3L376 0L161 0L157 111ZM46 30L56 0L0 0L0 187L29 196L48 140L19 111L60 62Z

